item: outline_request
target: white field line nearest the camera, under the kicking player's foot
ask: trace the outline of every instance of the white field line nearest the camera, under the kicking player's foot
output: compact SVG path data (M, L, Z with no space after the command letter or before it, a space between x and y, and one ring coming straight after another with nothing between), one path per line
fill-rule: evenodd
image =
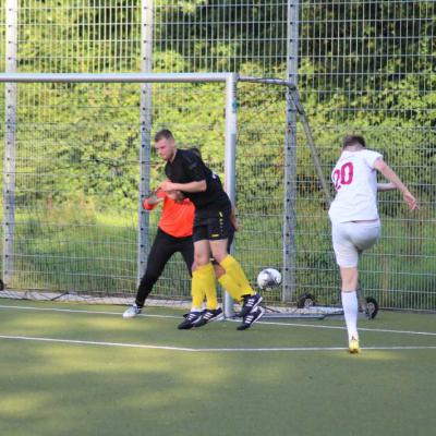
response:
M166 347L166 346L148 346L143 343L124 343L124 342L100 342L85 341L74 339L56 339L56 338L39 338L31 336L9 336L0 335L0 339L9 340L26 340L37 342L55 342L55 343L72 343L80 346L98 346L98 347L121 347L145 350L166 350L166 351L182 351L190 353L214 353L214 352L271 352L271 351L344 351L343 347L271 347L271 348L184 348L184 347ZM401 351L401 350L436 350L436 346L395 346L395 347L364 347L362 350L374 351Z

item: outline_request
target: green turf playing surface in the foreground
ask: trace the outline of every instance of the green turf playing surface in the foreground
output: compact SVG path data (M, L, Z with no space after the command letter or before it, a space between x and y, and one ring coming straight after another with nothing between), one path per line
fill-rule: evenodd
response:
M119 306L2 299L0 306L1 336L100 342L0 339L0 435L435 432L435 315L382 312L373 322L362 320L360 326L371 329L361 331L364 350L350 355L344 330L325 328L342 326L338 319L262 323L243 332L228 322L179 331L175 310L123 319ZM50 311L25 308L31 306ZM247 348L264 350L241 351ZM281 350L265 350L270 348Z

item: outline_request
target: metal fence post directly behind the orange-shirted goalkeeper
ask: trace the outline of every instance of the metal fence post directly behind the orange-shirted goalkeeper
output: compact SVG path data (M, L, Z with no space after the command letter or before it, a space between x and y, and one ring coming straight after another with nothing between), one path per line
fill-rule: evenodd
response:
M141 10L141 71L150 73L153 53L153 0L142 0ZM137 244L137 284L147 267L148 214L143 201L150 186L150 142L152 142L152 84L141 85L141 148L140 148L140 205L138 205L138 244Z

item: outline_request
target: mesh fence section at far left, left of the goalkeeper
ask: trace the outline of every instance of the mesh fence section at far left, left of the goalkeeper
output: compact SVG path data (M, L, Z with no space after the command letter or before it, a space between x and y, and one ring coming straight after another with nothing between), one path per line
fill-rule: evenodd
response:
M136 1L8 0L1 14L7 24L1 50L15 48L7 71L14 64L17 72L125 72L141 64ZM138 85L29 84L3 96L2 109L16 108L16 124L2 123L15 135L16 148L8 284L81 294L133 292Z

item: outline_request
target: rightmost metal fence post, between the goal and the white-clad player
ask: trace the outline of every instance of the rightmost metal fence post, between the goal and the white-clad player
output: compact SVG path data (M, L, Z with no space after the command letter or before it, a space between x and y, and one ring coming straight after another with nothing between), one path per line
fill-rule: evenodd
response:
M299 70L299 1L288 0L288 81L296 86ZM282 301L289 303L296 288L296 109L287 89L287 129L284 138L284 217Z

